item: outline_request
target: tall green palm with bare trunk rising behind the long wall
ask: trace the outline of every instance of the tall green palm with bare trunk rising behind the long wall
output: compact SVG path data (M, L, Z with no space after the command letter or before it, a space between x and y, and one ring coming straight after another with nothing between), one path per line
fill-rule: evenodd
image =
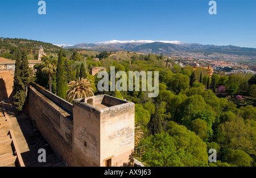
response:
M49 92L52 92L52 76L56 72L57 56L55 55L45 56L42 62L42 65L43 65L42 72L48 74L49 76Z

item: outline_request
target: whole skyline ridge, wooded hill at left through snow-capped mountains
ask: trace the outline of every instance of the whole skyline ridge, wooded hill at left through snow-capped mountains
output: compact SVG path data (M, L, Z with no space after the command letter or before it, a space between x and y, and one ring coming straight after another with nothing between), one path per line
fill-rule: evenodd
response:
M36 40L18 39L18 38L0 38L0 56L6 52L12 53L16 48L26 49L27 53L31 52L35 55L40 45L43 46L45 52L57 53L60 46L63 46L64 52L73 51L134 51L142 53L154 53L156 55L176 55L182 53L202 53L211 55L213 53L225 55L243 55L256 59L256 48L243 48L234 45L204 45L198 43L183 43L179 41L152 41L152 40L130 40L98 43L80 43L75 45L68 44L51 44L39 42Z

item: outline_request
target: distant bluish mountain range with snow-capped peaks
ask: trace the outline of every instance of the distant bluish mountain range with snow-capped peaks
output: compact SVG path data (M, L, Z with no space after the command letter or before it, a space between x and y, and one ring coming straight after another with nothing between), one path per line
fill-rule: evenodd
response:
M173 55L182 52L199 52L207 55L223 53L226 55L246 55L256 57L256 48L243 48L234 45L205 45L198 43L184 43L179 41L153 41L153 40L111 40L98 43L80 43L75 45L55 44L63 48L81 48L91 51L133 51L142 53L155 53L156 55Z

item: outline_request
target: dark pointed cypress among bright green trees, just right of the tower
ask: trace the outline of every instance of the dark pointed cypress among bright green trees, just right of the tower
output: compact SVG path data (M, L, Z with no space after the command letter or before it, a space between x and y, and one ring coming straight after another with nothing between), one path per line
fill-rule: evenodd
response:
M162 125L161 125L160 115L159 115L159 110L157 105L155 106L155 113L151 115L150 122L148 122L147 127L148 127L148 131L152 135L160 134L162 130Z

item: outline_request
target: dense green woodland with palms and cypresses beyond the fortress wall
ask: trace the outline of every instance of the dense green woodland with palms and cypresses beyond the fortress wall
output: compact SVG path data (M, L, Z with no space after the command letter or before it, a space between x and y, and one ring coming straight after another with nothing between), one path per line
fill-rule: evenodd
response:
M152 167L250 167L256 165L256 77L251 73L224 72L208 76L163 55L63 51L47 53L36 73L27 67L27 51L14 52L15 103L23 109L31 81L72 102L75 98L108 94L135 104L135 158ZM94 60L97 57L100 60ZM158 97L148 92L97 89L101 78L91 67L115 67L115 72L158 71ZM109 77L110 78L110 77ZM146 81L141 81L146 82ZM110 84L110 81L109 81ZM128 85L127 85L128 86ZM141 86L141 85L140 85ZM209 163L214 148L217 162Z

